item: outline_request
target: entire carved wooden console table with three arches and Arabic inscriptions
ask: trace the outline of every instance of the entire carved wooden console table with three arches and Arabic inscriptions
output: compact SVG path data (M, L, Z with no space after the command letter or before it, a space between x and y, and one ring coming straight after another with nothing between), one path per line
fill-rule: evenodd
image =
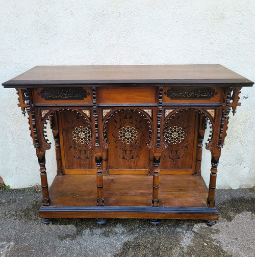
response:
M3 83L28 113L51 218L218 219L215 187L228 114L253 82L221 65L36 66ZM48 189L47 122L57 175ZM202 141L212 154L209 189Z

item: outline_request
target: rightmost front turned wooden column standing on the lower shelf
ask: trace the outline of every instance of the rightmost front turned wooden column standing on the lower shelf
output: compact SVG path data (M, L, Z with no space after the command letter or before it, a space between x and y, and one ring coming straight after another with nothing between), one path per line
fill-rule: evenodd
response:
M208 207L215 207L215 189L216 189L216 177L217 177L217 167L219 163L218 160L215 159L215 156L212 155L212 168L211 168L211 175L210 175L210 183L209 183L209 193L207 198L207 205Z

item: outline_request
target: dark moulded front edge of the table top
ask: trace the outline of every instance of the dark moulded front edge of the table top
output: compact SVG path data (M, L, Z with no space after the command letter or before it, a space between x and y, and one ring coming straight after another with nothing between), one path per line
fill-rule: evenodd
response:
M180 84L189 84L190 86L198 86L203 84L203 86L212 87L213 84L217 84L218 87L233 86L233 87L251 87L254 83L248 79L195 79L195 80L10 80L2 83L5 88L35 88L35 87L63 87L63 86L116 86L123 84L128 84L127 86L162 86L167 85L174 86L170 84L175 84L180 86ZM142 84L142 85L141 85ZM146 85L148 84L148 85ZM178 85L179 84L179 85ZM205 85L206 84L206 85Z

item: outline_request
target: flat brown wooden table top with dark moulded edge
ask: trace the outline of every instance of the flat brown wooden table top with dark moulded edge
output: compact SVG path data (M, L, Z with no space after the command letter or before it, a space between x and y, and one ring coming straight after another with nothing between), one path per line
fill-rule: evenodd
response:
M6 88L116 84L238 84L253 82L220 64L35 66L3 83ZM235 86L235 85L234 85Z

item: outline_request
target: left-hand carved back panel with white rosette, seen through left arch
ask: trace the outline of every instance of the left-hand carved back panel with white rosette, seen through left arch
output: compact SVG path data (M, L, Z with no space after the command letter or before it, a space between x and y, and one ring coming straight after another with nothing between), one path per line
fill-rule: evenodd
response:
M60 113L60 119L65 169L95 169L93 145L90 144L92 129L87 118L77 112L65 111Z

